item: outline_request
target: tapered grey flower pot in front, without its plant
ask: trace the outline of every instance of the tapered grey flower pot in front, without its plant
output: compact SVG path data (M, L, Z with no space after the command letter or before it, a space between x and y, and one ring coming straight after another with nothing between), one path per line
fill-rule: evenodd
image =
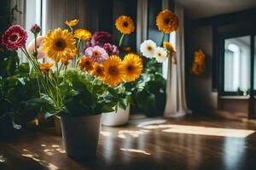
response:
M67 156L83 159L96 156L101 117L61 116L61 131Z

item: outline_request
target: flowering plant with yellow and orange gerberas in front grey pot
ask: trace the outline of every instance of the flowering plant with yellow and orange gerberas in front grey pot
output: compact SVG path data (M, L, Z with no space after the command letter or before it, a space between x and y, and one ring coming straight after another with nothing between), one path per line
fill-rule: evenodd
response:
M106 93L132 75L128 75L126 63L118 55L108 55L99 46L88 48L86 55L80 56L81 42L89 42L91 33L75 29L79 20L65 23L69 31L57 28L44 36L42 50L49 62L38 60L37 38L41 31L38 25L31 28L35 37L32 54L26 49L27 33L21 26L10 26L3 35L3 44L9 50L20 48L30 61L40 90L40 98L32 102L41 105L46 117L61 117L67 155L74 158L96 156L101 114L113 111L116 105L112 99L106 99ZM132 62L139 57L127 59Z

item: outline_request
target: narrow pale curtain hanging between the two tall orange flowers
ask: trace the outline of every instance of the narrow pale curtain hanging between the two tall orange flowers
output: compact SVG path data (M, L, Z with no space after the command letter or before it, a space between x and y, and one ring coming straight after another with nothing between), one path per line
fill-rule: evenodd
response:
M137 1L137 53L148 34L148 0Z

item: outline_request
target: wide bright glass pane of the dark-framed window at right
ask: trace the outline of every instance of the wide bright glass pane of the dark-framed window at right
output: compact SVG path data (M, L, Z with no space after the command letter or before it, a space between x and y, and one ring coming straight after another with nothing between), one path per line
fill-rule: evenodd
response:
M250 87L250 37L225 39L224 91L247 95Z

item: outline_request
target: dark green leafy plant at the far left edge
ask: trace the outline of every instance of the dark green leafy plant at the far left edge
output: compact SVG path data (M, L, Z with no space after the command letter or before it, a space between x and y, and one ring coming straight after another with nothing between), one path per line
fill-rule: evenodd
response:
M33 105L31 99L38 98L36 77L29 73L28 63L19 65L15 51L1 47L0 52L0 136L12 136L14 124L26 126L40 112L40 105Z

